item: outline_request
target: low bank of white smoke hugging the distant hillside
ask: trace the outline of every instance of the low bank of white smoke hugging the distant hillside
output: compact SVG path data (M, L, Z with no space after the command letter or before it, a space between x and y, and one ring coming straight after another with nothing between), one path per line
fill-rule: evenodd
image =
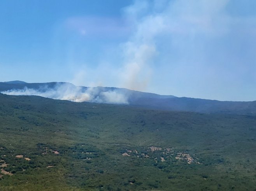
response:
M128 104L128 95L118 89L103 87L82 87L70 83L56 83L53 88L41 86L39 89L27 88L2 91L6 95L35 95L55 100L68 100L72 102L95 102Z

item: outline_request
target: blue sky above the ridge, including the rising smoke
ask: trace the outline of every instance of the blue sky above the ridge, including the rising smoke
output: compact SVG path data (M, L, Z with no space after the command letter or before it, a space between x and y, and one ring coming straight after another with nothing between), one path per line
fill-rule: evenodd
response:
M256 100L256 1L1 0L12 80Z

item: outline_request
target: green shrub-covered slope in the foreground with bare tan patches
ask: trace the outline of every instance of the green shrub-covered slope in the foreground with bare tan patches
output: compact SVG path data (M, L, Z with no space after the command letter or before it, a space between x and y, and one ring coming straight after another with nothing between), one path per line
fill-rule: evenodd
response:
M256 116L0 102L1 191L255 189Z

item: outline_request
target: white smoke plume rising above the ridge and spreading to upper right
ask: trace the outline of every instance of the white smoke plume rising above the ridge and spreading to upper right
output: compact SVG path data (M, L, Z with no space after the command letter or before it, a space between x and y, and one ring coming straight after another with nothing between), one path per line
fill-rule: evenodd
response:
M174 62L176 50L181 50L181 60L186 59L188 54L190 56L188 52L191 51L186 50L190 39L196 35L225 33L228 18L222 11L228 2L135 0L126 7L124 15L133 23L134 33L122 46L124 62L120 75L121 86L145 90L156 75L153 72L157 65L178 62ZM190 62L190 59L186 60L186 63Z

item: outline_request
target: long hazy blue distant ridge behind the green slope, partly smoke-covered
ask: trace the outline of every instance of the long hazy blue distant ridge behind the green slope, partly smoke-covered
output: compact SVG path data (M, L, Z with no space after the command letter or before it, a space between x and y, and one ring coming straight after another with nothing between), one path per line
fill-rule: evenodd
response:
M256 101L231 102L179 98L173 95L158 95L125 88L75 86L65 82L1 82L0 92L7 95L37 95L74 102L130 104L158 110L256 115Z

